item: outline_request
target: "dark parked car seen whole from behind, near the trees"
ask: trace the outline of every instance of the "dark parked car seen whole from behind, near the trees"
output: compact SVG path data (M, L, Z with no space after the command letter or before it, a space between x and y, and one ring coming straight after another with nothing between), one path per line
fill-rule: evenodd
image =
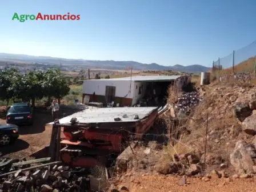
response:
M33 108L28 103L13 103L6 115L6 123L32 125Z

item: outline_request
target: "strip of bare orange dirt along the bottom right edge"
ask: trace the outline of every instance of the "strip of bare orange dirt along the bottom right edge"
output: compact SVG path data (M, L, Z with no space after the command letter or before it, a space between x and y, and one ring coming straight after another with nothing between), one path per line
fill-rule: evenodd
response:
M185 186L178 185L180 180L181 177L172 175L130 176L129 178L123 178L123 182L117 183L117 188L120 189L124 186L127 187L130 192L253 192L256 189L255 178L210 179L208 182L202 181L199 178L187 178L187 184Z

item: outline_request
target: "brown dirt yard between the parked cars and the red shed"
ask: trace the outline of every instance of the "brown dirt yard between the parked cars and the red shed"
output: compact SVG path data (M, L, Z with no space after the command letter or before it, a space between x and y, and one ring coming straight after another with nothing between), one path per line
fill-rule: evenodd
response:
M61 105L60 117L66 117L81 109L74 106ZM0 106L0 123L6 123L6 107ZM33 126L19 126L19 138L9 146L0 147L0 152L5 157L27 158L29 155L49 145L52 125L46 125L52 121L51 111L35 109Z

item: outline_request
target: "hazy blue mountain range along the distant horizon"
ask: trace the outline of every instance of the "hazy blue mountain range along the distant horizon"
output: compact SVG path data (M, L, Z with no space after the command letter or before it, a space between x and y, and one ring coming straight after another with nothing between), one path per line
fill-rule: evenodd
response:
M200 73L209 71L210 67L202 65L174 65L163 66L157 63L145 64L135 61L93 61L85 59L65 59L57 57L44 57L44 56L31 56L23 54L8 54L0 53L0 61L2 62L17 62L17 63L39 63L45 65L60 65L62 66L83 66L90 68L102 68L102 69L125 69L126 67L133 67L135 70L174 70L186 73Z

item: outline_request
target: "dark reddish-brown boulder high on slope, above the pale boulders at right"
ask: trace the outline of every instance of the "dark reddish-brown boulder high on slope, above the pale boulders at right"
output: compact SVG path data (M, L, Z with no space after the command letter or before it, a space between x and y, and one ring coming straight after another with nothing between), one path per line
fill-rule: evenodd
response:
M233 107L235 117L237 117L241 122L252 114L252 110L248 103L237 102Z

